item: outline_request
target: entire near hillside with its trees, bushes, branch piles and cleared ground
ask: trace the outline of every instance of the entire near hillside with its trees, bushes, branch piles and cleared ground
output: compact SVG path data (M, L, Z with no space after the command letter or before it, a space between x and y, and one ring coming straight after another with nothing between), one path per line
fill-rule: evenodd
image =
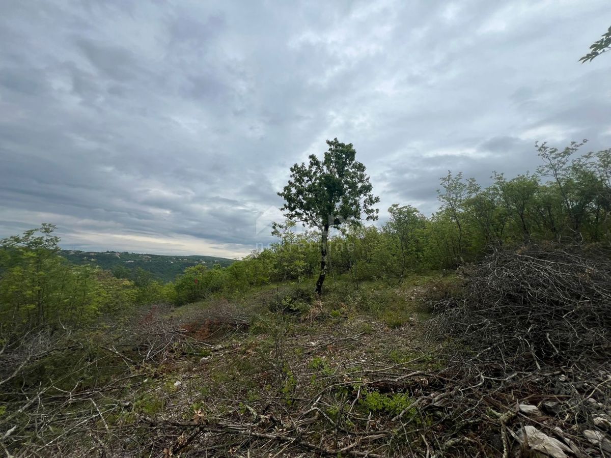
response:
M375 225L329 141L274 244L172 282L70 263L52 224L2 240L4 453L606 456L611 150L584 143Z

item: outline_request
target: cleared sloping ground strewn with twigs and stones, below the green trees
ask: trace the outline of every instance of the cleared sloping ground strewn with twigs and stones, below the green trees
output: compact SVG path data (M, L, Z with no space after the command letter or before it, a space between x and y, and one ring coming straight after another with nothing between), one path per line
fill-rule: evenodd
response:
M482 264L470 280L464 272L358 289L331 282L322 300L309 283L287 283L142 308L71 349L76 386L68 371L31 398L31 413L7 410L4 420L22 422L15 436L30 444L23 456L605 456L611 371L608 359L596 357L608 354L604 331L571 340L539 321L541 342L550 344L543 349L533 325L507 333L503 322L516 326L503 311L497 342L488 341L485 321L495 323L496 309L486 300L505 310L491 280L503 271L511 277L511 263L529 263L525 269L546 256L498 256L498 265ZM555 267L562 263L551 258ZM608 272L591 267L584 278L579 259L566 265L585 289L594 288L591 304L609 294ZM511 288L549 284L558 297L546 297L560 307L563 297L573 299L558 285L574 289L563 272L552 267L540 282L522 276ZM485 307L469 308L482 285L491 288L480 297ZM447 328L449 317L474 310L481 321L469 325L477 329L464 333L460 320ZM558 329L562 318L546 316ZM574 357L577 343L593 349L587 359L579 345L582 356ZM86 360L91 370L83 373ZM57 368L57 360L47 363ZM26 438L34 427L37 437Z

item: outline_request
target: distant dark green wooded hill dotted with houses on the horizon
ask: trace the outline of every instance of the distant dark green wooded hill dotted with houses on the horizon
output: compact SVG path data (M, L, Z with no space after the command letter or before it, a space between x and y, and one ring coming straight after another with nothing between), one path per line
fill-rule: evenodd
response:
M102 269L113 271L116 276L124 278L128 278L131 272L136 271L138 267L142 267L145 271L150 272L153 277L164 282L172 282L176 275L181 274L186 267L197 266L197 264L205 264L210 268L214 264L227 267L234 262L231 259L217 258L215 256L143 255L114 251L62 250L60 255L67 258L73 264L92 264Z

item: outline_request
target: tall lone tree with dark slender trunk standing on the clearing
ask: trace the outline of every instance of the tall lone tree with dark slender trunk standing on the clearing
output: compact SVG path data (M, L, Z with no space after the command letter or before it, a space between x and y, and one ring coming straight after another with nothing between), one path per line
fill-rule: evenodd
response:
M379 197L371 194L365 165L354 160L353 145L337 138L327 140L327 145L329 150L322 161L312 154L308 165L293 165L287 186L278 193L285 200L280 208L286 212L285 217L320 230L320 275L316 282L319 295L327 274L329 229L342 224L359 225L363 216L365 220L378 219L378 209L373 205L379 202Z

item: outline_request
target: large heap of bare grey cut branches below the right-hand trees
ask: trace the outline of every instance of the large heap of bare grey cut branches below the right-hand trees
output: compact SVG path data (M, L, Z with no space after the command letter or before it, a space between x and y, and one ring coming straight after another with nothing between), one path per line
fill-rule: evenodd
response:
M611 257L580 249L525 247L461 269L464 296L437 303L433 330L503 366L541 360L607 360L611 351Z

